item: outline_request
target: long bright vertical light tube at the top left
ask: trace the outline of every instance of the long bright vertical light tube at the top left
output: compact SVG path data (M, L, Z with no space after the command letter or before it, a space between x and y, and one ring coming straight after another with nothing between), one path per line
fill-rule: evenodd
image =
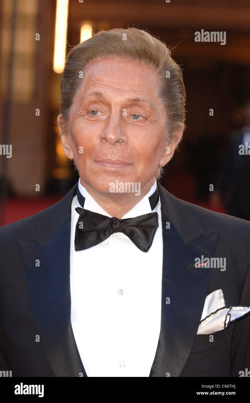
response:
M56 26L53 69L62 73L66 56L66 37L68 25L68 0L56 2Z

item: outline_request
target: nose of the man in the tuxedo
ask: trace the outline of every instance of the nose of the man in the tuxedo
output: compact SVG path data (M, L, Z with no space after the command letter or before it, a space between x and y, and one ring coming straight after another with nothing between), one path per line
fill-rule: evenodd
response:
M125 123L121 113L111 113L105 121L105 127L100 135L102 142L108 142L111 145L116 143L126 143L127 136L125 131Z

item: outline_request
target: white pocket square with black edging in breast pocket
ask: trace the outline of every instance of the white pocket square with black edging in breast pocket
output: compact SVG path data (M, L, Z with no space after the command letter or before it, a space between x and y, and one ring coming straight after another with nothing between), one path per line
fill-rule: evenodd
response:
M226 329L230 322L250 312L250 306L226 306L221 289L207 295L197 334L211 334Z

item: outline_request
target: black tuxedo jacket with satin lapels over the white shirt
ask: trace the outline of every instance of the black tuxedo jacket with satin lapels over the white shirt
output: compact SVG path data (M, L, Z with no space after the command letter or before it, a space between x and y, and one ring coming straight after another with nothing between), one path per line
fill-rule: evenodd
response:
M0 229L0 370L12 376L87 376L70 322L76 190L77 184L60 202ZM161 330L149 376L239 376L250 370L250 315L215 332L213 342L197 330L205 298L217 289L227 305L250 306L250 222L184 202L161 185L159 194ZM202 255L226 258L226 270L193 268Z

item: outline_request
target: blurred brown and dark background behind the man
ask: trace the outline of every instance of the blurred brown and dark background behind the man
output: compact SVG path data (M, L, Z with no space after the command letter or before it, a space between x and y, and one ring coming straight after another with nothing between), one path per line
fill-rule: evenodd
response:
M187 129L161 184L250 219L249 21L247 0L2 0L0 225L56 203L78 180L56 125L65 56L94 31L132 26L171 48L186 87ZM225 31L226 44L195 42L202 29Z

